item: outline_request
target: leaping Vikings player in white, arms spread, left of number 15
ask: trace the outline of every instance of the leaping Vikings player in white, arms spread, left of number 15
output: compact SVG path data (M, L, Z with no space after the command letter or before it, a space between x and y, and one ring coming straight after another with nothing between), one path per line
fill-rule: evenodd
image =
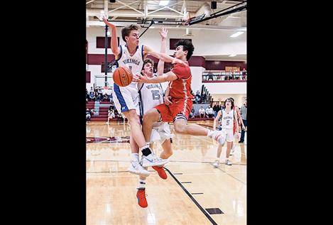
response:
M182 60L174 59L169 55L155 53L146 45L138 45L138 26L133 24L121 29L121 37L126 42L126 45L119 45L118 47L116 26L109 23L106 18L103 18L103 21L111 30L111 50L115 55L118 65L129 67L133 75L140 74L143 67L143 58L148 54L158 57L164 62L183 63ZM138 107L137 82L132 81L131 84L126 87L119 87L117 84L114 84L112 92L117 111L126 116L131 126L131 165L129 166L129 171L138 175L148 176L149 172L144 170L143 167L164 165L168 163L168 159L163 160L156 157L151 151L151 148L149 148L149 143L145 141L138 116L140 115L140 111ZM138 160L137 148L143 153L141 164Z

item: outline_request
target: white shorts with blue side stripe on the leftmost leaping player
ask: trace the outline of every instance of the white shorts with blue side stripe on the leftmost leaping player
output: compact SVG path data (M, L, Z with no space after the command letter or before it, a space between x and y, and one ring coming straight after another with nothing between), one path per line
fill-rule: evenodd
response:
M116 110L118 112L136 109L136 114L140 116L140 107L138 105L138 89L131 87L131 85L126 87L119 87L117 84L114 84L114 89L112 92L114 97L114 106L116 106Z

